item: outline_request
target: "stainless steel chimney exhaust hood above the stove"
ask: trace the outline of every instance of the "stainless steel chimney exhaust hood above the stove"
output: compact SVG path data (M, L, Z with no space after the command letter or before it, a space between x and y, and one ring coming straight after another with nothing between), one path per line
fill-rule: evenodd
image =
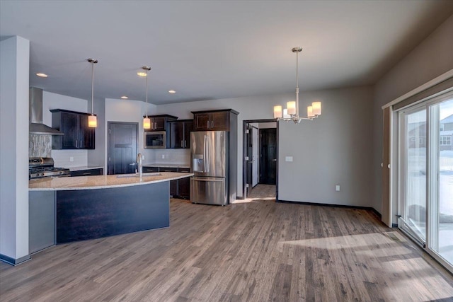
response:
M29 94L29 117L30 117L30 134L42 134L42 135L64 135L63 132L59 132L45 124L42 124L42 89L36 87L30 87Z

